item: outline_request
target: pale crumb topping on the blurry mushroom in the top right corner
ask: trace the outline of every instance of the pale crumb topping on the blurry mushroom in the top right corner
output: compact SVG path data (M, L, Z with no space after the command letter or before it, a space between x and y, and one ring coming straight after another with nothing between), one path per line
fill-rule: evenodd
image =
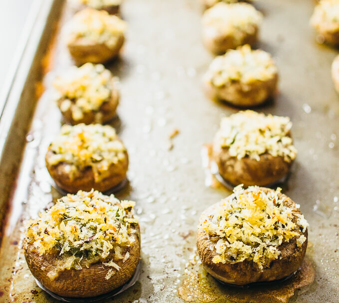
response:
M321 0L315 7L311 23L317 27L321 23L338 23L339 27L339 0Z

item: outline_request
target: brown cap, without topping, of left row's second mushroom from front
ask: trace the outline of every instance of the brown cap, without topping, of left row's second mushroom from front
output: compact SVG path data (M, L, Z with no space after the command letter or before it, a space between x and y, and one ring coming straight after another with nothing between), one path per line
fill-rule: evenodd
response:
M51 150L46 153L46 167L55 183L69 193L76 193L80 189L90 191L92 188L105 192L117 186L126 178L129 160L127 151L124 154L125 158L111 164L107 171L107 177L98 182L95 180L93 169L90 166L81 170L78 176L73 178L71 172L67 169L68 163L48 164L48 157L53 155Z

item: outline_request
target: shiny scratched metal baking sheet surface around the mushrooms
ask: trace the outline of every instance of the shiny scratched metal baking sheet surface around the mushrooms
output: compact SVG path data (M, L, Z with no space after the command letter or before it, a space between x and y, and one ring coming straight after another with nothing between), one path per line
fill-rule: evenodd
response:
M60 1L61 2L61 1ZM310 223L309 256L316 281L291 302L339 301L339 100L330 66L337 51L317 45L309 18L314 1L258 0L265 18L259 46L280 70L280 90L261 110L290 116L299 154L284 192L301 204ZM176 289L195 248L199 214L229 192L205 185L200 152L224 115L235 112L207 100L201 77L212 56L200 39L197 0L126 0L129 23L121 59L108 65L120 77L119 120L113 125L130 153L129 186L119 198L137 201L142 229L142 273L112 302L182 302ZM72 14L63 9L61 23ZM60 128L51 80L71 64L58 32L45 93L37 103L21 169L11 196L0 248L0 302L50 303L24 262L22 220L60 197L44 154ZM34 98L34 96L32 96ZM169 134L180 131L172 140ZM338 138L338 139L337 139Z

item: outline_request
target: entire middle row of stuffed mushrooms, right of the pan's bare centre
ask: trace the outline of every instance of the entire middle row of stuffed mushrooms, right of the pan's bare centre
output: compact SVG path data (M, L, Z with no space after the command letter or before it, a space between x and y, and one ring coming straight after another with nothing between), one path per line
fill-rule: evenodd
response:
M277 90L272 56L252 49L263 15L251 1L201 0L202 41L217 55L203 79L207 96L237 108L257 107ZM233 193L208 207L197 230L205 270L230 285L286 279L301 266L308 223L300 205L276 190L297 156L288 117L252 110L222 118L212 162ZM215 171L213 171L215 173ZM240 184L240 185L239 185Z

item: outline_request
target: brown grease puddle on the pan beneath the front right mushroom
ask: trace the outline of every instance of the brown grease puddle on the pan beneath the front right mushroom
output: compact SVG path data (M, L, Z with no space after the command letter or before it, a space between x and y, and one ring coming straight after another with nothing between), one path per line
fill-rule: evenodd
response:
M248 288L226 286L212 278L194 257L186 266L186 278L177 292L185 302L201 303L288 303L296 291L313 283L315 270L306 258L288 280Z

